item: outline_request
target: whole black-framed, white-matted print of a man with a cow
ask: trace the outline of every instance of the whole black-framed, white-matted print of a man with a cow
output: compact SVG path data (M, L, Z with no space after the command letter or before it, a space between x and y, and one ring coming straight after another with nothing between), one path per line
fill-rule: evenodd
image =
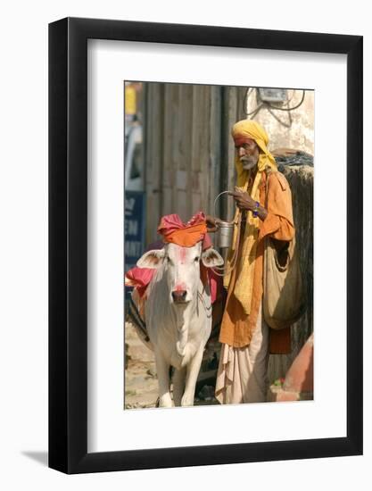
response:
M50 467L362 453L362 37L56 21L49 176Z

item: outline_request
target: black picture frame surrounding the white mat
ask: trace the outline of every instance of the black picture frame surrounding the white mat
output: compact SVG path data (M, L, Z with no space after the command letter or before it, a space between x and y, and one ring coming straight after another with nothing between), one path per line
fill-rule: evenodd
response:
M347 55L346 437L87 453L87 39ZM81 473L362 454L362 42L134 21L66 18L49 25L51 468Z

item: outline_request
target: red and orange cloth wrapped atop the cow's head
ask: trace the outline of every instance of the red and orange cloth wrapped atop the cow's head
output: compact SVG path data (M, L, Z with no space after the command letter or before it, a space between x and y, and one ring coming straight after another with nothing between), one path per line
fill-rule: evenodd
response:
M165 215L161 219L158 233L161 234L164 242L192 247L203 240L207 233L205 215L203 212L197 212L187 223L184 223L176 213Z

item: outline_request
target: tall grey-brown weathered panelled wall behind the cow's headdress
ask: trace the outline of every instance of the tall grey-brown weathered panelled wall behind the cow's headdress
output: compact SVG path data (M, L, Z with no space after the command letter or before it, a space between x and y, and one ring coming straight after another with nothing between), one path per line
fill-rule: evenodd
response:
M222 188L233 188L231 125L244 117L244 88L144 84L146 243L156 240L161 216L182 220L213 214ZM227 210L228 208L228 210ZM233 201L219 203L220 216Z

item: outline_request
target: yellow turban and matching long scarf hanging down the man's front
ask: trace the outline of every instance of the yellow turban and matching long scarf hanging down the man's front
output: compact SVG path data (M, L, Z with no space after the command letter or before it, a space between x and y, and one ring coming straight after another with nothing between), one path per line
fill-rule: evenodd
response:
M254 201L260 202L260 180L262 172L268 167L272 171L277 171L277 163L275 162L272 154L269 153L268 144L269 137L266 131L256 121L243 120L238 121L231 131L232 137L236 142L236 146L244 143L244 140L252 139L260 148L259 161L257 163L257 172L254 178L252 189L249 190L250 195ZM255 171L255 170L253 170ZM236 152L236 172L237 180L236 185L241 190L248 190L248 179L251 171L244 171L242 162L240 162L239 155ZM235 223L237 225L240 211L236 209ZM244 312L249 314L251 312L252 302L252 287L254 276L254 263L256 259L257 251L257 238L260 230L260 219L253 217L252 212L247 212L247 220L245 224L244 237L242 244L240 245L241 254L238 255L235 263L236 267L236 285L234 288L234 295L237 300L242 304ZM237 226L234 231L233 245L228 254L227 259L227 275L224 278L224 285L228 287L230 281L231 267L233 264L231 260L234 257L236 251L236 238L240 230L237 230Z

